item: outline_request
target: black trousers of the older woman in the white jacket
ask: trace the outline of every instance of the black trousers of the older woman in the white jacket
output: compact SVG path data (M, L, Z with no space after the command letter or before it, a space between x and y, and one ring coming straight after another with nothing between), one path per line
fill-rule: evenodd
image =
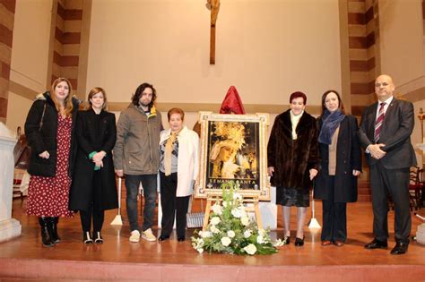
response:
M186 214L190 196L176 197L178 175L173 173L166 176L160 172L160 205L162 220L160 235L170 235L176 218L177 235L184 237L186 233Z

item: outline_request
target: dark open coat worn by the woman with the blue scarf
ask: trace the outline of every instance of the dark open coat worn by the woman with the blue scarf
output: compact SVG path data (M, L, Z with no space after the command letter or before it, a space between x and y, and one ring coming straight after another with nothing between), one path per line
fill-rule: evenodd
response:
M318 119L319 128L323 121ZM340 124L336 143L336 169L334 175L334 202L357 201L357 176L352 170L361 171L359 127L352 115L346 115ZM329 145L319 144L321 170L315 179L315 199L328 200L329 194Z

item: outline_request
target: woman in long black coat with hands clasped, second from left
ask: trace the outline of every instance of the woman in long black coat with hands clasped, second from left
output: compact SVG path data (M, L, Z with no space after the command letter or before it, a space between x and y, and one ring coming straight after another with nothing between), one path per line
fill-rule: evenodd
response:
M117 140L115 115L108 113L106 93L100 87L89 93L90 108L78 113L78 142L70 209L80 210L82 241L103 243L100 231L105 209L117 209L117 185L112 149ZM91 235L91 219L93 233Z

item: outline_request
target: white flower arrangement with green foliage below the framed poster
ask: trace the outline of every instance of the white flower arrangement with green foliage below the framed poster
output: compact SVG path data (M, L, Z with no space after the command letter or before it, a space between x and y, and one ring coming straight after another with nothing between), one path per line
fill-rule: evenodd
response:
M221 184L222 201L212 206L212 214L205 231L195 231L191 237L197 252L226 252L235 254L272 254L277 249L269 229L258 229L245 211L239 182ZM278 243L279 244L279 243Z

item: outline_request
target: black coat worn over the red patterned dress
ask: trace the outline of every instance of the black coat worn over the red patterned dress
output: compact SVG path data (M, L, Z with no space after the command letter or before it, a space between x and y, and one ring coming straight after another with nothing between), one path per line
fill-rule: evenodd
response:
M75 159L75 146L76 141L74 138L75 118L78 111L78 100L73 98L74 110L72 113L73 127L71 132L71 148L69 155L68 175L73 175L74 159ZM41 116L43 115L43 108L46 105L44 112L43 123L40 129ZM50 98L50 93L45 92L39 94L37 100L32 103L30 112L25 121L25 135L28 144L31 148L30 164L28 166L28 173L30 175L48 176L53 177L56 175L56 162L57 162L57 110L55 103ZM48 151L50 157L40 158L39 154Z

